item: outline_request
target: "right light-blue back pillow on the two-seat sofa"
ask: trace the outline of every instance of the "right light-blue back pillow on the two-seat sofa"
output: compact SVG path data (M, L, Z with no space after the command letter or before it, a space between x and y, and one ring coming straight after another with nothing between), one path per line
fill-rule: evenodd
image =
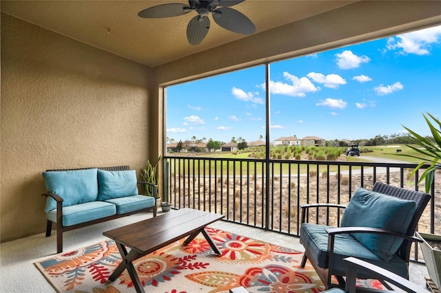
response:
M98 170L98 200L138 195L136 171Z

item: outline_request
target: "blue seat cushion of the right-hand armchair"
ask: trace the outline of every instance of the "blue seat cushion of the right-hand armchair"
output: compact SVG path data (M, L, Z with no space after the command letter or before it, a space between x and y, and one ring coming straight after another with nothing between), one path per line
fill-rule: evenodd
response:
M314 261L320 268L326 268L328 233L327 229L335 228L325 225L302 224L300 228L300 243L305 246ZM394 272L403 278L407 278L409 272L407 263L400 257L393 255L389 261L384 261L371 250L362 245L350 234L338 234L334 241L334 268L333 274L345 276L346 264L343 259L346 257L356 257L381 268ZM359 278L368 279L370 276L363 274L362 270L358 273Z

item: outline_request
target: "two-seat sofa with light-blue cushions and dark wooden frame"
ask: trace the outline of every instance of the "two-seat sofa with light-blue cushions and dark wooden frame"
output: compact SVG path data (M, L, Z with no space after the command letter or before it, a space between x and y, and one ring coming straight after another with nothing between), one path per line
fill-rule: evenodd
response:
M46 237L57 225L57 253L63 252L63 232L153 210L155 197L139 195L138 184L150 185L153 194L158 186L137 182L136 171L129 166L88 169L57 169L43 172L48 193L45 213Z

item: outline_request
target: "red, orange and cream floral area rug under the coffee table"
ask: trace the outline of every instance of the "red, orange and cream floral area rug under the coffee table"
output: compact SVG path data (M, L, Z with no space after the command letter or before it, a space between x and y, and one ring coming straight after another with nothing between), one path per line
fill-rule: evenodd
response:
M146 292L320 292L324 286L311 265L300 268L302 252L230 232L206 228L222 252L214 254L198 235L188 245L176 241L134 261ZM114 241L57 254L35 263L58 292L135 292L127 270L107 281L121 263ZM371 284L369 285L369 287Z

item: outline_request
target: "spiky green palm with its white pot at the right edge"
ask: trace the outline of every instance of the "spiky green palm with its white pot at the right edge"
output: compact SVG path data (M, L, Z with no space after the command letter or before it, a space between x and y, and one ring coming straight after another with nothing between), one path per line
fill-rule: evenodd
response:
M427 137L419 135L415 131L404 127L407 131L409 131L409 144L406 144L410 149L417 151L422 156L418 155L406 155L408 157L417 158L421 160L420 164L416 166L416 168L412 171L411 175L416 173L418 169L420 169L424 164L430 164L429 168L424 170L420 177L420 182L425 180L425 191L429 193L433 184L433 179L435 175L435 171L441 169L441 164L439 163L441 159L441 122L439 119L435 118L430 113L427 113L427 116L422 114L424 119L429 126L429 129L433 135L433 141ZM438 128L437 128L438 127ZM422 232L416 232L417 237L422 239L421 250L422 255L424 257L424 261L426 262L427 271L429 272L429 276L433 283L440 288L441 285L441 236L427 234Z

